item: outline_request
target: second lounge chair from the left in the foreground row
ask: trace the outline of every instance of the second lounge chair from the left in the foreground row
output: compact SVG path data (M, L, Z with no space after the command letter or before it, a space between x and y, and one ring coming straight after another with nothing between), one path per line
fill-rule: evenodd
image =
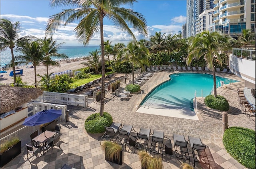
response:
M130 137L132 129L133 129L133 126L128 124L124 124L122 126L122 129L118 129L118 136L116 137L116 143L124 145L126 148L126 143Z

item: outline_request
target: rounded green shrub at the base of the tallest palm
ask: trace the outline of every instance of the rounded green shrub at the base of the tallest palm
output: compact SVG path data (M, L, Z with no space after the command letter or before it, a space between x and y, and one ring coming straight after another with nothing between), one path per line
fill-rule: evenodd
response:
M100 116L100 113L94 113L88 116L84 122L84 128L88 133L102 133L104 132L105 126L110 126L113 122L112 116L104 112L103 116Z

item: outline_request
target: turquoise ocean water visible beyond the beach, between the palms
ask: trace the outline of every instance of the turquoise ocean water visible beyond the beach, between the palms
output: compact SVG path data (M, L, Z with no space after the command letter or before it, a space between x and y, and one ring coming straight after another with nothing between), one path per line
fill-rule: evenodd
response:
M58 53L64 53L69 58L71 57L82 57L82 56L88 56L89 52L95 51L96 49L100 49L100 46L62 46L58 50ZM18 55L18 52L14 51L14 56ZM52 58L57 59L57 58ZM11 50L8 48L5 51L0 53L0 63L1 66L10 63L12 60Z

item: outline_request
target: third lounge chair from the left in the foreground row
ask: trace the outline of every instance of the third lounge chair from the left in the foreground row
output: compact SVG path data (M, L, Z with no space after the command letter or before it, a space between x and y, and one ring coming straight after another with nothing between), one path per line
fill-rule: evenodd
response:
M137 139L135 143L135 148L148 150L150 129L140 128L140 132L137 133ZM135 153L135 149L134 149Z

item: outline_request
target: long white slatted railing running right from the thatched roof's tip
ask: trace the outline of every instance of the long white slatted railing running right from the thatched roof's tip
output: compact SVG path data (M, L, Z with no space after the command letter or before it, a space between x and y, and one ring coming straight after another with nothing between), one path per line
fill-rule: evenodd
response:
M58 92L44 92L38 101L87 107L88 95L87 94L85 95L67 94L67 93L58 93Z

